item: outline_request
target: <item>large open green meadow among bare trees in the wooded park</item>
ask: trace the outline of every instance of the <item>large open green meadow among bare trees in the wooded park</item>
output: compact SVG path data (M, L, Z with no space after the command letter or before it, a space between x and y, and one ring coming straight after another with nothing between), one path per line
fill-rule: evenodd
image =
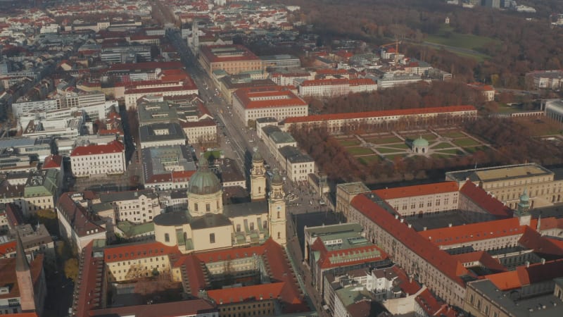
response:
M426 42L459 47L461 49L479 49L491 43L497 44L498 40L491 39L491 37L457 33L454 32L453 27L444 25L438 34L428 35ZM470 54L468 53L467 55Z

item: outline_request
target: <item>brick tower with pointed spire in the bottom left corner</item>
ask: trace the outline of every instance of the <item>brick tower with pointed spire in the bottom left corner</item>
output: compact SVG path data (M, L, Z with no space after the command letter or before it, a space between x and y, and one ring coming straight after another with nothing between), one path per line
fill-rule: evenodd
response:
M18 288L20 289L20 306L22 311L35 311L35 296L30 263L27 263L27 256L25 256L25 250L23 249L19 234L17 235L15 247L15 277L18 280Z

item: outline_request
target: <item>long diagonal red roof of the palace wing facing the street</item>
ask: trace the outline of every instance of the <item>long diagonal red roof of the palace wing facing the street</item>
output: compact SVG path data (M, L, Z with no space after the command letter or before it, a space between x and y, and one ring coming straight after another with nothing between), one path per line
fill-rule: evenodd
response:
M408 228L406 223L400 223L400 220L369 199L365 194L354 197L351 205L374 223L377 223L382 230L385 230L389 235L403 243L407 249L428 261L431 266L434 266L438 271L457 282L457 284L464 286L460 276L468 275L469 272L462 266L460 261L439 249L438 246L428 239L424 239L414 229Z

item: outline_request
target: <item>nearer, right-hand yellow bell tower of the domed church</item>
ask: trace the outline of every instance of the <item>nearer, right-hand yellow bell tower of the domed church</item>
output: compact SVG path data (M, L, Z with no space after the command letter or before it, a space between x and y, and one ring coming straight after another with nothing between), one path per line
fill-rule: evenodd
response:
M284 182L278 170L272 176L272 189L268 199L268 232L270 237L281 245L286 245L286 201Z

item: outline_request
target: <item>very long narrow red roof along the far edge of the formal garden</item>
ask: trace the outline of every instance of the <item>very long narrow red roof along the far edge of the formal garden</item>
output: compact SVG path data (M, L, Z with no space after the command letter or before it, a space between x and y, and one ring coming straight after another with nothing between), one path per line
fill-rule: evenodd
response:
M388 116L409 116L422 115L426 113L452 113L458 111L477 111L474 106L445 106L431 108L410 108L382 111L365 111L365 112L348 112L348 113L329 113L316 116L291 117L285 120L285 123L306 123L315 121L328 120L345 120L355 118L377 118Z

